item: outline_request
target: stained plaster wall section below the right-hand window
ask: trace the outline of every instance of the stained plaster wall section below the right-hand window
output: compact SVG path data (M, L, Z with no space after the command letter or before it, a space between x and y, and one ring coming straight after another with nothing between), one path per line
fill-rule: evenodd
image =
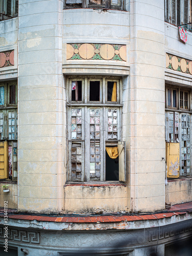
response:
M165 186L165 202L173 204L192 201L192 178L175 179Z

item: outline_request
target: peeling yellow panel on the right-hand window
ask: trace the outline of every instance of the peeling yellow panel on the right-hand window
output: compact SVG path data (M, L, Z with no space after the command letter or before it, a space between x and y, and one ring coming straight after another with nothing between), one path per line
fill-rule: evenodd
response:
M167 178L179 177L179 143L166 143Z

